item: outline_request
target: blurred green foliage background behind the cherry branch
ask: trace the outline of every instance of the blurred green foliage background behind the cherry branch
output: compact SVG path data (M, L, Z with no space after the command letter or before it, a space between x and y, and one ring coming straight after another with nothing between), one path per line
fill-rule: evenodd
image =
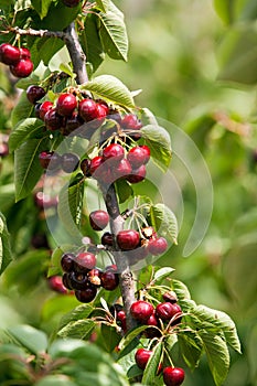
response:
M256 36L248 31L253 28L251 19L256 20L256 8L247 8L247 13L246 6L253 6L253 1L234 2L238 3L238 13L234 12L229 19L226 11L221 11L221 1L215 1L222 20L211 0L120 0L116 3L126 15L129 62L107 60L97 74L113 74L130 89L142 89L137 104L186 132L199 147L212 176L212 219L200 247L188 258L182 256L196 207L195 186L188 175L180 185L184 214L179 245L160 261L175 268L174 277L186 283L196 302L223 310L236 322L243 355L232 353L232 368L224 385L256 386L257 135L254 73L257 69L254 64L256 66L257 58L231 66L238 57L248 57L247 46L249 51L254 46L256 50ZM236 34L237 25L243 31L239 37L233 34ZM243 43L239 44L240 39ZM0 81L0 124L4 133L9 129L14 94L7 99L11 86L3 71ZM172 126L170 135L172 138ZM175 156L171 171L179 178L180 162ZM30 244L33 233L47 232L43 223L35 225L31 221L39 215L33 199L18 204L13 202L12 156L9 156L4 163L2 161L0 208L8 217L14 251L28 265L32 264L33 269L20 277L20 268L10 268L3 277L0 326L22 321L50 332L60 315L77 302L47 289L43 274L49 255L44 248L39 255ZM170 205L173 207L172 199ZM17 213L22 221L19 222ZM199 371L194 374L188 372L184 385L214 385L205 358Z

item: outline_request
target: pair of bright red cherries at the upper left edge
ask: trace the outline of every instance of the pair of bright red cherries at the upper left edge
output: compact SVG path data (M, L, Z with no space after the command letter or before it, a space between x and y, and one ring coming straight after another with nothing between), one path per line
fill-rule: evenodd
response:
M0 45L0 62L9 65L15 77L28 77L33 71L31 53L25 47L17 47L9 43Z

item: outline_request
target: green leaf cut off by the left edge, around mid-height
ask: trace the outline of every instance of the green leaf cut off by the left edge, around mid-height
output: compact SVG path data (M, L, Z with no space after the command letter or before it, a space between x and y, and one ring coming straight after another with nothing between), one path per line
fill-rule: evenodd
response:
M12 260L10 235L4 216L0 213L0 275Z

